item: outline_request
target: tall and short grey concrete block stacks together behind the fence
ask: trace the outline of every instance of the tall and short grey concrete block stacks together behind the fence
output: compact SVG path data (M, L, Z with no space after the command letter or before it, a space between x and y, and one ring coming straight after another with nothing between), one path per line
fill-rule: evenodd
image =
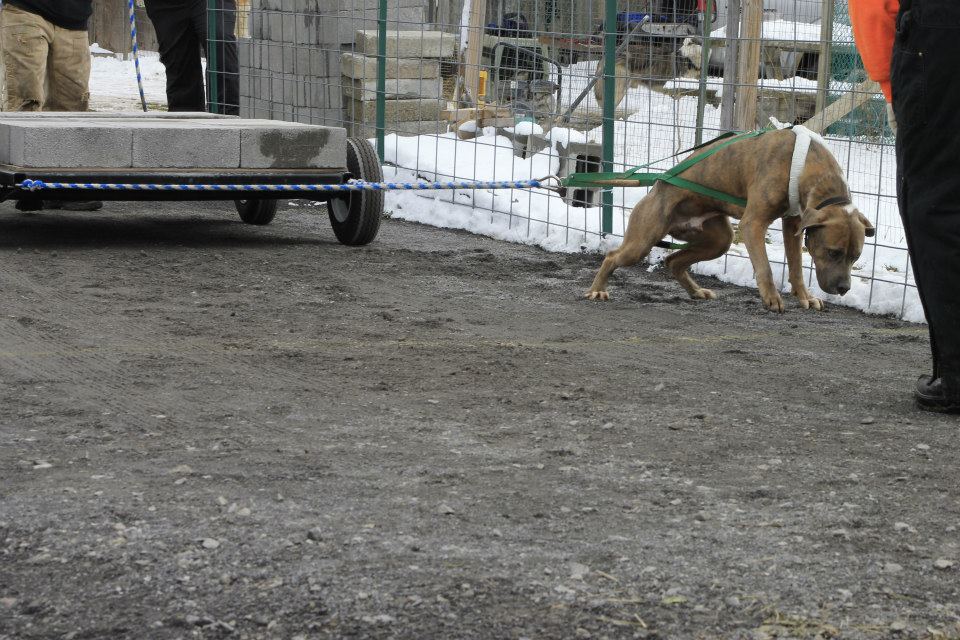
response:
M425 25L430 0L389 0L387 129L437 133L441 60L457 36ZM240 48L243 117L340 125L370 135L376 100L378 0L252 0Z

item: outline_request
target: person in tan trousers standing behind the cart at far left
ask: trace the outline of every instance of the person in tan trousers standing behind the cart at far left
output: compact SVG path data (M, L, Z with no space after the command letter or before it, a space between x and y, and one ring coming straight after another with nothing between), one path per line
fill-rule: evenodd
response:
M0 51L6 80L4 111L87 111L92 0L6 0L0 11ZM21 211L95 211L99 201L25 199Z

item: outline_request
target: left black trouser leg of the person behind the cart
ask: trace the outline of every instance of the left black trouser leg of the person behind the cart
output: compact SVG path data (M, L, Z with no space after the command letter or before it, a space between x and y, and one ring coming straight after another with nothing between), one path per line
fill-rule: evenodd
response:
M167 73L170 111L206 111L200 41L185 5L147 0L147 16L157 32L160 61Z

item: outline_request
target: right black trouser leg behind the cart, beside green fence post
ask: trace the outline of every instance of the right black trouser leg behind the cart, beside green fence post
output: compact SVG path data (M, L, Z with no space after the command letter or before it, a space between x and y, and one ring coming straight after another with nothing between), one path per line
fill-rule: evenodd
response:
M237 3L236 0L215 0L213 12L214 41L216 43L216 68L211 68L207 58L207 87L216 82L217 95L214 104L213 92L207 91L208 110L214 113L239 115L240 113L240 64L237 58ZM195 0L191 8L191 25L206 52L209 32L207 0Z

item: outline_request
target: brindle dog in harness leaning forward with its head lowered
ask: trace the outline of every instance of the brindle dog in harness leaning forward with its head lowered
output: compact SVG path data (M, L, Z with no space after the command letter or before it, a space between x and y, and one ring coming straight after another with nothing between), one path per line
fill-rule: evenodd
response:
M767 228L789 208L788 183L796 135L772 131L735 142L683 173L683 177L718 191L744 198L746 207L721 202L658 182L630 214L623 244L607 254L587 292L591 300L607 300L607 278L617 267L636 264L665 235L688 244L671 254L666 265L692 298L711 300L716 294L694 282L687 269L722 256L733 242L729 218L740 220L740 234L750 254L763 304L783 311L783 299L767 258ZM714 144L720 144L714 143ZM708 145L709 148L712 145ZM705 149L706 149L705 148ZM823 309L803 282L802 243L813 257L817 282L831 294L850 290L850 271L860 257L865 236L874 227L850 202L840 165L816 140L810 144L799 178L799 216L783 217L783 243L793 295L804 309Z

